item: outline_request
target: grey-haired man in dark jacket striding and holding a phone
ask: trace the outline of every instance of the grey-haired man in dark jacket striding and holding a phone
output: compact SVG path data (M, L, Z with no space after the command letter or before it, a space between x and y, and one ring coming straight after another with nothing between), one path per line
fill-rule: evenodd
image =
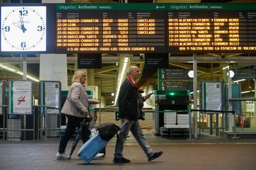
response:
M155 160L163 154L163 152L153 152L152 148L148 144L144 137L142 129L140 127L138 118L140 117L139 109L139 92L136 80L139 79L140 70L137 66L131 66L128 70L127 79L122 83L119 93L119 116L121 118L121 124L124 127L119 132L116 140L116 148L114 150L114 163L130 163L122 156L122 150L124 149L124 140L128 136L129 131L135 137L140 147L148 157L148 161Z

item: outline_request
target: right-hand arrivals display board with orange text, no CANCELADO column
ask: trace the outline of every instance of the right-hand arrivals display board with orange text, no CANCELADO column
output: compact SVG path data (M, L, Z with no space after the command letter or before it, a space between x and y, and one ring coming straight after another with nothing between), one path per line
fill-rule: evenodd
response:
M168 52L255 52L255 4L166 4Z

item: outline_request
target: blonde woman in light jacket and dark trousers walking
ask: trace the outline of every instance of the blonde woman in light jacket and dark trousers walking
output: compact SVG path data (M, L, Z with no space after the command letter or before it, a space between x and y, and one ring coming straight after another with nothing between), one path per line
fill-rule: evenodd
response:
M59 142L59 152L56 155L58 159L68 159L69 156L66 155L65 150L67 147L67 142L69 138L74 134L76 127L80 127L80 123L87 116L88 105L98 104L97 100L88 99L87 92L85 91L83 84L87 75L85 71L75 71L72 78L72 84L69 89L69 94L67 94L67 99L62 107L61 113L67 116L67 127L61 140ZM90 138L90 130L85 127L82 132L83 143L85 143Z

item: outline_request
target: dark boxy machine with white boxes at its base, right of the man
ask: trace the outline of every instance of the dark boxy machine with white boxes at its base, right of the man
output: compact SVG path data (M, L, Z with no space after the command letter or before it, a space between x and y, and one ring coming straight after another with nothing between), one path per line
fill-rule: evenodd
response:
M182 134L184 129L189 129L189 91L154 91L154 95L153 132L156 136L169 134L169 128L181 131ZM168 113L168 110L171 111ZM175 116L166 121L166 117L173 115L173 110L176 110ZM186 117L186 124L179 123L177 118L184 116Z

